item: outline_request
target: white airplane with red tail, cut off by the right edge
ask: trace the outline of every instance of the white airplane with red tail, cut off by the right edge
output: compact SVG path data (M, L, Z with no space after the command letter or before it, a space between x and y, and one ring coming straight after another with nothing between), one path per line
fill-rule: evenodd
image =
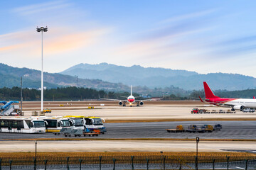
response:
M210 90L210 87L206 82L203 82L203 87L206 94L206 102L215 106L231 107L232 111L242 111L244 108L256 108L255 98L220 98L213 94L213 91ZM199 98L202 102L204 102L200 96Z

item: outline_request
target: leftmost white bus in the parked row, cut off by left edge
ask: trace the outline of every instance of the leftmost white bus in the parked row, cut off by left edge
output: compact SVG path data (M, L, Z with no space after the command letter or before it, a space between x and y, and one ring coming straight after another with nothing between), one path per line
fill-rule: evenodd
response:
M45 133L46 126L43 120L36 118L0 117L0 132Z

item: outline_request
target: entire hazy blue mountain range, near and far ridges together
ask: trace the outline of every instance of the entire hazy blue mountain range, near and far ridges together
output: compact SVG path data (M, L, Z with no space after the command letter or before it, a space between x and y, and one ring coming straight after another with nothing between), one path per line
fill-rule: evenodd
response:
M61 73L44 73L44 85L47 88L60 86L78 86L108 91L134 91L153 94L154 88L163 88L159 93L185 94L184 90L203 89L203 81L207 81L213 90L255 89L256 79L241 74L198 74L186 70L164 68L144 68L138 65L132 67L114 64L78 64ZM41 71L28 68L11 67L0 63L0 87L20 86L23 77L23 87L41 87ZM178 87L178 88L177 88ZM149 89L150 88L150 89Z

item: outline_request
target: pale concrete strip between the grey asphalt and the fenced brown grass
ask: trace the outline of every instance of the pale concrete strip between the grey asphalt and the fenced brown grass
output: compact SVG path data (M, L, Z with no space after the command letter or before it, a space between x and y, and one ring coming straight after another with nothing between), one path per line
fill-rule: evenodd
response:
M34 141L1 141L1 152L35 152ZM256 152L255 142L201 141L198 152ZM38 141L38 152L195 152L195 141Z

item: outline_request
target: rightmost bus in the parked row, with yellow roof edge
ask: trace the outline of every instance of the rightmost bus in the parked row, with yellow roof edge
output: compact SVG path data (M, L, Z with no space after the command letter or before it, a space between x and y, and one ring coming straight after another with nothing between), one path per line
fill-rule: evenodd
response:
M100 133L104 134L107 132L106 128L102 123L102 119L100 117L95 116L84 116L84 115L66 115L63 118L68 119L80 119L82 120L82 125L85 129L93 131L93 130L100 130ZM79 120L77 120L79 121ZM105 120L103 119L103 122Z

